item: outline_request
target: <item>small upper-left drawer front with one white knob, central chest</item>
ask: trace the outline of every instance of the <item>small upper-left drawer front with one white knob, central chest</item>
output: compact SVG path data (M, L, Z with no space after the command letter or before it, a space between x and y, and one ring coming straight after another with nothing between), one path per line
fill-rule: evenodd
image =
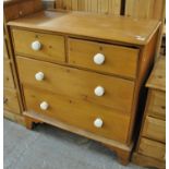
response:
M64 37L22 29L12 33L16 53L53 62L65 61Z

